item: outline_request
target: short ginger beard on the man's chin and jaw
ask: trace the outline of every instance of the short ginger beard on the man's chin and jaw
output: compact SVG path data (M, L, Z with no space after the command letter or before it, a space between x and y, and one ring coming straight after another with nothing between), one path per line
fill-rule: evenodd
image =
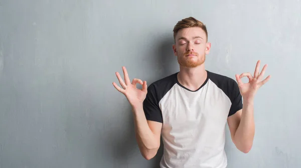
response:
M196 57L190 58L187 57L186 55L188 54L194 54L196 55ZM184 66L184 67L197 67L201 64L203 64L205 62L205 53L203 55L199 55L198 52L185 52L183 55L178 56L178 62L180 65Z

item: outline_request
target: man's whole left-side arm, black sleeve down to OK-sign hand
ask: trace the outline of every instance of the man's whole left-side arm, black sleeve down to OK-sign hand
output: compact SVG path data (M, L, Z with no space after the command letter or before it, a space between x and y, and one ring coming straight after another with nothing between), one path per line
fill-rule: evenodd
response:
M120 74L116 72L122 88L115 82L113 82L113 85L119 92L125 95L131 104L138 147L144 158L151 159L156 155L160 147L162 128L161 110L155 96L156 91L154 87L147 88L146 81L142 81L141 79L134 78L130 82L124 66L122 70L124 81ZM141 89L136 88L136 84L138 83L142 85Z

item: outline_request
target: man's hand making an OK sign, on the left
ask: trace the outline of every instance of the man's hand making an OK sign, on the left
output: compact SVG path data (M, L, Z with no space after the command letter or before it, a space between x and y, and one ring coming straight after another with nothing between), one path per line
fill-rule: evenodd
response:
M141 107L147 93L146 81L142 82L141 79L134 78L132 82L130 82L126 68L124 66L122 66L122 70L124 81L122 80L120 74L116 72L116 76L122 88L119 87L115 82L113 82L114 87L126 96L128 102L132 105L132 107ZM142 85L141 89L138 89L136 87L137 83Z

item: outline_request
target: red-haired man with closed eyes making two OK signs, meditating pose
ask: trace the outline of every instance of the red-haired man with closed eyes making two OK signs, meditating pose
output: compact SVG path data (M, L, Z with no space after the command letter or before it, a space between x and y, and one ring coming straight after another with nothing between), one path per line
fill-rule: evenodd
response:
M173 50L180 71L153 82L134 78L125 67L124 81L116 72L119 87L132 105L136 140L141 154L153 158L164 142L161 167L226 167L225 125L228 122L235 146L247 153L253 143L253 103L267 65L254 75L236 74L237 82L227 76L205 70L205 56L210 51L206 25L188 17L174 27ZM248 83L241 78L247 76ZM137 89L136 84L142 84Z

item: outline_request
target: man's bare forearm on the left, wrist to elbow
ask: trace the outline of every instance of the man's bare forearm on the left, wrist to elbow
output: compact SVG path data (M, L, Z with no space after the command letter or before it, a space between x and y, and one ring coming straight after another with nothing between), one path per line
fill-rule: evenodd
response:
M158 140L158 137L149 128L142 105L133 107L133 118L140 152L146 159L150 159L156 155L160 147L160 138Z

